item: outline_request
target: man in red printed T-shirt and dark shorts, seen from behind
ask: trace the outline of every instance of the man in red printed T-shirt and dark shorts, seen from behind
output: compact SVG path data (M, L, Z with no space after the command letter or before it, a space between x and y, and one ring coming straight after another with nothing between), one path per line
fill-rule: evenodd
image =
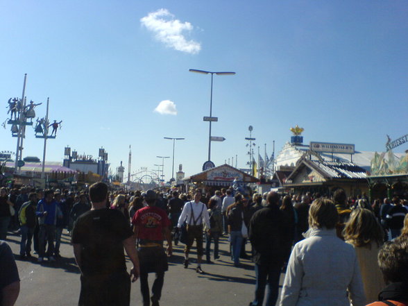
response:
M132 224L135 236L139 239L140 262L140 290L142 291L143 305L159 306L164 283L164 272L169 269L167 255L171 255L172 244L170 226L171 222L166 212L155 206L157 194L148 190L144 197L148 206L137 210L133 216ZM167 255L164 252L163 240L167 240ZM152 287L152 296L149 296L148 273L156 275Z

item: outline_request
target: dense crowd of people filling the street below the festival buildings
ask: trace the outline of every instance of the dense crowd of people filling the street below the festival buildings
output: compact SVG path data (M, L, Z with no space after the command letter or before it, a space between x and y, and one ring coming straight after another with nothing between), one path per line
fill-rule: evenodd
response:
M232 187L109 192L103 183L85 192L2 187L0 240L18 232L20 259L33 257L33 245L37 262L53 262L66 229L81 271L78 305L129 305L130 281L139 278L144 305L158 306L173 244L185 244L187 269L196 241L195 271L204 274L203 255L207 264L218 260L224 236L234 266L241 258L255 263L250 306L384 305L379 298L400 306L408 305L407 205L398 197L371 205L364 194L347 198L343 189L329 197ZM151 292L148 273L155 273Z

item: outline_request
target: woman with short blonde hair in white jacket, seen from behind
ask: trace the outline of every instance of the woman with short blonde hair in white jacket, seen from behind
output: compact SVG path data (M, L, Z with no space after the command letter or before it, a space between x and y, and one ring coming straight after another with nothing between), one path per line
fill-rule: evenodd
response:
M309 209L307 238L292 250L280 306L364 306L357 256L336 235L334 203L319 198Z

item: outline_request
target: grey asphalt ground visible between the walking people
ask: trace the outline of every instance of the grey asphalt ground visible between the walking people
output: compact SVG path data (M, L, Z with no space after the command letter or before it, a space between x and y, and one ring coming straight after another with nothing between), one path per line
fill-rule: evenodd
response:
M9 233L7 242L15 254L21 289L16 306L65 306L78 305L80 274L74 260L74 252L69 244L67 232L62 234L60 253L62 258L56 262L46 259L37 263L37 255L32 260L19 259L19 235ZM241 260L235 267L229 255L227 237L221 237L219 260L212 264L201 264L205 274L196 273L196 252L192 248L190 264L184 269L183 244L173 246L169 257L169 271L164 276L162 306L247 306L253 300L255 290L255 271L253 262ZM250 253L250 244L246 244ZM128 269L132 266L127 259ZM149 286L153 284L154 273L149 274ZM282 284L284 274L281 274ZM133 282L130 305L142 305L139 280Z

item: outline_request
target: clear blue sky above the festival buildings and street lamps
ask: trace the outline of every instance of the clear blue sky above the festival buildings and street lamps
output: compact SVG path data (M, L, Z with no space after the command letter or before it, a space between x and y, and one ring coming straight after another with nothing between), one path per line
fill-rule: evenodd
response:
M158 34L159 33L159 34ZM155 170L156 155L175 169L201 171L207 160L210 75L214 76L212 161L238 156L245 137L271 154L305 128L310 141L383 151L386 135L408 133L407 1L0 1L1 122L10 97L22 94L44 117L62 120L47 144L47 160L64 147L96 156L103 146L112 169ZM155 112L171 101L173 114ZM176 112L176 114L175 114ZM10 126L0 151L15 151ZM27 129L24 156L42 157ZM396 151L407 150L402 145ZM127 169L126 169L127 172ZM164 175L171 177L171 158Z

